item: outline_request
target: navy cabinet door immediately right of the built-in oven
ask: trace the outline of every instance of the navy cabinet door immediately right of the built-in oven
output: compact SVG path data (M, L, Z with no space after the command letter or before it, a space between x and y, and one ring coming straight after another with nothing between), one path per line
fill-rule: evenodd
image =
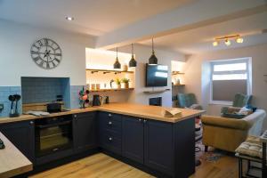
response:
M97 148L97 122L95 112L74 114L73 131L76 152Z

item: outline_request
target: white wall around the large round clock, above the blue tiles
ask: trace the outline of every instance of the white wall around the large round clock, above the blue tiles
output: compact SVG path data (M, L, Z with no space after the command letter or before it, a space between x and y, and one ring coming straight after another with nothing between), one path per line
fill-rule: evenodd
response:
M61 46L56 69L41 69L31 59L31 44L43 37ZM85 47L93 47L94 41L92 36L0 20L0 86L20 85L20 77L70 77L70 85L85 85Z

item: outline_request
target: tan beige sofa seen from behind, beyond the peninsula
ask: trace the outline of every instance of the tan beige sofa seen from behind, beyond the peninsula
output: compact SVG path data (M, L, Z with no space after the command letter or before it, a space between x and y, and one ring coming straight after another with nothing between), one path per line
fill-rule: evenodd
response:
M236 119L228 117L203 116L203 144L216 149L234 152L247 139L247 135L259 136L262 133L266 113L263 109L247 117ZM205 150L206 150L205 149Z

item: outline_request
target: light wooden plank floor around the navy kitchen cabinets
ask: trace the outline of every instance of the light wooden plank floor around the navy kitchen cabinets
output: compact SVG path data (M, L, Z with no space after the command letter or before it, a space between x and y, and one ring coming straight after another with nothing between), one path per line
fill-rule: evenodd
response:
M31 178L147 178L153 177L141 170L128 166L117 159L110 158L102 153L91 157L82 158L64 166L59 166ZM218 161L211 163L202 160L197 167L196 173L190 178L236 178L238 177L237 158L224 156Z

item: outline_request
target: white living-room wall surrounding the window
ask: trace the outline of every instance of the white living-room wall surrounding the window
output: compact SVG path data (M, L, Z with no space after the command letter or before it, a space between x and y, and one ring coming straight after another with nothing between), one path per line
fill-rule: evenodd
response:
M227 60L243 57L252 58L252 94L253 105L267 110L267 44L244 48L199 53L188 57L185 65L185 91L195 93L198 101L205 107L207 114L219 115L221 105L211 105L209 101L208 61ZM267 128L265 120L264 128Z

